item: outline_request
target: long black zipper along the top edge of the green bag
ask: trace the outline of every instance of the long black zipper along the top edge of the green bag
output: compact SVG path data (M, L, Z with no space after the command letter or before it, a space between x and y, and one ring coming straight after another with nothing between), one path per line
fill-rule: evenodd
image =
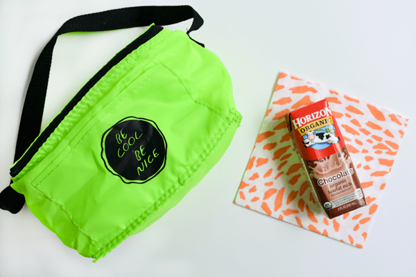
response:
M37 137L36 141L31 145L31 147L26 151L23 157L17 161L15 166L12 166L10 168L10 175L12 177L16 177L19 172L28 164L29 161L33 158L33 155L39 150L39 148L43 145L43 143L46 141L46 139L49 138L49 136L55 131L56 127L58 127L59 123L64 120L65 116L69 114L69 112L73 109L73 107L76 106L78 102L87 94L89 89L94 87L94 85L103 78L103 76L112 69L113 66L121 62L127 55L132 53L132 51L135 51L135 49L139 48L142 44L145 44L148 42L152 37L155 37L161 30L163 30L162 26L151 26L146 33L143 33L141 36L137 37L133 42L128 44L128 46L125 46L123 50L121 50L119 53L117 53L110 62L107 62L105 66L103 66L100 71L98 71L94 77L92 77L87 84L84 85L78 93L76 93L76 96L72 98L71 101L62 109L60 114L53 118L52 122L44 129L42 134Z

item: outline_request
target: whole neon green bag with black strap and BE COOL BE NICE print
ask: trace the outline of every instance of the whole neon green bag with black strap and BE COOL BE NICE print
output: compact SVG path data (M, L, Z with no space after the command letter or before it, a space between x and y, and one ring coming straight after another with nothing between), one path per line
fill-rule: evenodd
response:
M193 18L184 33L162 28ZM26 204L81 255L103 258L175 206L218 162L241 115L224 65L189 33L190 6L135 7L67 21L40 54L1 208ZM58 35L150 26L39 134Z

